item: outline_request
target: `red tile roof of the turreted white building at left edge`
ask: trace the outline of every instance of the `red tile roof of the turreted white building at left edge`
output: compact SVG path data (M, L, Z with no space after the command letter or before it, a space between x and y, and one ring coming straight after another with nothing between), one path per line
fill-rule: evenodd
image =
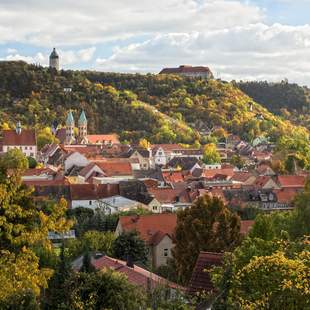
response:
M32 129L23 129L20 134L15 130L3 130L3 145L35 146L36 144L36 133Z

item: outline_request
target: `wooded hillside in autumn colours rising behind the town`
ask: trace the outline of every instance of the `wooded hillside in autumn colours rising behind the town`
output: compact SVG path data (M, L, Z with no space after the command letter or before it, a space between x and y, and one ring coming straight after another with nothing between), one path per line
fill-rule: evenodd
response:
M90 133L116 132L123 141L205 143L207 134L223 138L228 132L248 141L265 136L283 144L286 137L306 141L309 135L233 83L174 74L57 72L24 62L0 62L1 120L36 127L51 126L55 120L64 124L70 109L85 110Z

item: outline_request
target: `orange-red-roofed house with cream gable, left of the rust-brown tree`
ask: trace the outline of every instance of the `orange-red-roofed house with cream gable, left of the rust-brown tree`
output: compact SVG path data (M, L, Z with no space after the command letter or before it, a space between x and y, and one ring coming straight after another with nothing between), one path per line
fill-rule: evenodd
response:
M121 216L115 234L136 230L149 247L152 266L166 265L172 257L173 235L176 227L176 215L170 213Z

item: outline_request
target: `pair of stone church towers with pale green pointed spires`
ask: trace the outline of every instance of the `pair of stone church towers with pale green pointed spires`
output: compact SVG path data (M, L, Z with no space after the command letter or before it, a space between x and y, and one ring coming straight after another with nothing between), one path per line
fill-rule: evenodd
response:
M78 135L74 132L75 122L72 111L67 115L66 119L66 144L85 143L87 141L87 118L85 112L82 111L78 120Z

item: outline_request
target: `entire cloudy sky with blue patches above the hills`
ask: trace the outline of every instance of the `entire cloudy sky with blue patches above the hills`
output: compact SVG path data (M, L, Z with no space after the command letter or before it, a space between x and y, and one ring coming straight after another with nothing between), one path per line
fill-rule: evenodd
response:
M0 59L310 85L310 0L0 0Z

